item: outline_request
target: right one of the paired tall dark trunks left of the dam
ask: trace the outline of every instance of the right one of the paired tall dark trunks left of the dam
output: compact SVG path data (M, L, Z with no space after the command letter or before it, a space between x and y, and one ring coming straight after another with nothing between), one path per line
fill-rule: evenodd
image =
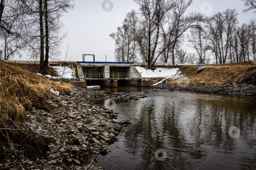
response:
M45 0L45 61L44 61L44 71L47 74L48 70L48 60L49 60L49 28L48 28L48 10L47 10L47 0Z

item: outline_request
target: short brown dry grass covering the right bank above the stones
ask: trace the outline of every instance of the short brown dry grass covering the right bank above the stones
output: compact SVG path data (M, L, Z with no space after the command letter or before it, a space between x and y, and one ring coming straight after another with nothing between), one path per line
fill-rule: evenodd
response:
M240 81L248 76L256 75L256 65L252 61L207 65L199 71L198 66L180 66L179 68L191 83L221 84ZM177 81L171 81L170 83L177 83Z

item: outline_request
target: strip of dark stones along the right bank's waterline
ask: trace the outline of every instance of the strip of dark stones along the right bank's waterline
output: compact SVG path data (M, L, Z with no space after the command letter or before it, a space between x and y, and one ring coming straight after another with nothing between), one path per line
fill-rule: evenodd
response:
M238 82L207 84L207 83L191 83L188 80L180 83L164 82L155 86L159 89L193 91L199 93L210 94L229 94L229 95L246 95L256 96L256 77L249 77Z

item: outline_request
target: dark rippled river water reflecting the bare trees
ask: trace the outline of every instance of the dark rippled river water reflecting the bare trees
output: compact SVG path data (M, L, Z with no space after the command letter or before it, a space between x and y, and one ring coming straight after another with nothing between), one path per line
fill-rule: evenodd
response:
M256 169L255 99L160 91L117 103L119 120L132 124L98 164L127 170ZM229 135L232 126L241 130L238 138ZM158 149L166 151L164 161L155 158Z

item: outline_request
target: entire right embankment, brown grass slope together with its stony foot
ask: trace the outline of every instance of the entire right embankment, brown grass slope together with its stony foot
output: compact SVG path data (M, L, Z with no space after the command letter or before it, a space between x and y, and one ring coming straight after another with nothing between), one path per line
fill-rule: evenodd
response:
M232 95L256 95L256 63L253 61L199 66L180 66L182 77L156 86L170 90Z

